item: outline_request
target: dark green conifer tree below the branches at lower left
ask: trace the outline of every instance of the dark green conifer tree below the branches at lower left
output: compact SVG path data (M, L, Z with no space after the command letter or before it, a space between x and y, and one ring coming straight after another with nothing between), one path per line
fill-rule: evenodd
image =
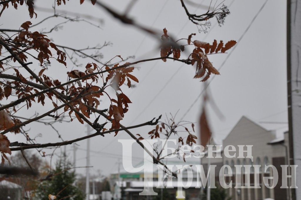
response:
M48 199L48 195L57 195L57 199L64 198L64 200L83 200L85 194L76 186L74 182L76 176L73 170L68 170L71 167L70 161L67 160L66 155L63 155L55 165L52 172L57 174L51 178L50 181L44 181L37 188L34 196L35 200Z

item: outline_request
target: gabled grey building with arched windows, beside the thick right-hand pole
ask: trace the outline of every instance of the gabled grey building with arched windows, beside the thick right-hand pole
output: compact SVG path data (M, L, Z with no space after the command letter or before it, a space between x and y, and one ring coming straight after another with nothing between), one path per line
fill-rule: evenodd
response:
M236 152L231 152L231 155L236 153L238 155L237 145L253 145L252 156L253 162L250 158L226 158L222 152L222 158L211 158L210 164L217 165L216 167L216 180L219 176L219 170L222 165L231 166L232 172L234 173L232 177L226 177L226 183L230 183L232 180L232 188L227 189L228 194L233 200L263 200L266 198L272 198L275 200L290 200L291 194L289 189L282 189L281 186L281 175L282 170L280 165L285 165L288 163L289 158L289 140L287 132L281 133L280 136L276 134L275 130L267 130L266 128L259 125L259 123L250 120L249 118L243 116L237 122L237 124L230 131L228 136L223 140L222 146L225 148L227 145L233 145L236 147ZM246 156L246 153L245 155ZM237 157L237 156L236 156ZM208 163L209 158L202 158L202 164L204 169ZM264 166L272 164L276 167L278 171L278 183L275 188L268 189L262 182L262 177L272 176L272 171L263 172ZM237 189L234 188L235 181L235 169L234 165L262 165L260 168L260 178L259 185L261 188L258 189ZM254 169L251 167L250 183L254 186ZM271 169L271 168L269 168ZM241 184L244 186L246 175L244 172L244 167L241 171ZM288 179L290 183L290 179ZM271 185L271 184L270 184Z

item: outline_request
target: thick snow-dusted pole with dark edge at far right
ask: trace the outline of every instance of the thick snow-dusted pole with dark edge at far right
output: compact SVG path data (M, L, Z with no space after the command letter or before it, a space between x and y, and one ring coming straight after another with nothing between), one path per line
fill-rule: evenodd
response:
M301 166L301 0L287 0L287 102L290 164ZM294 177L292 177L293 179ZM296 173L297 189L292 199L301 200L301 173Z

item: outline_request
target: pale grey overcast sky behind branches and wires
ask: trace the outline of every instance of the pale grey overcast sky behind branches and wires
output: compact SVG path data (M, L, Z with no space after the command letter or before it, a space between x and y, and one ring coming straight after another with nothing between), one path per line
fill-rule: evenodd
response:
M128 2L116 0L107 1L106 3L116 10L123 11ZM204 5L209 5L210 1L194 0L194 2L203 2ZM224 3L229 5L230 2L232 1L225 0ZM131 10L130 16L147 26L154 24L153 27L157 30L166 28L168 33L177 39L187 38L189 34L197 33L193 39L203 41L206 36L204 41L211 43L214 39L218 41L238 40L264 2L263 0L234 0L230 7L231 14L226 18L225 25L222 27L216 26L216 20L212 19L213 28L208 35L198 33L197 27L188 21L188 17L178 0L140 0ZM35 5L51 8L53 1L35 1ZM160 12L161 8L162 11ZM188 5L188 9L194 12L196 7ZM79 5L79 0L67 2L66 6L62 5L57 8L58 13L62 10L90 14L103 19L104 23L101 24L101 29L84 22L66 23L62 30L48 34L48 37L54 39L56 44L85 48L98 43L102 44L104 41L110 41L113 45L102 50L104 54L102 61L104 62L115 55L121 55L123 58L135 55L136 58L131 61L160 56L159 43L156 39L145 35L145 33L134 27L116 21L103 9L92 6L88 0L82 5ZM198 8L196 11L197 14L203 12L206 12L203 8ZM51 13L38 9L36 9L36 13L38 18L30 19L24 6L19 7L18 11L10 7L9 12L4 12L2 16L1 26L16 29L27 20L34 24L42 20L43 17L51 15ZM37 26L36 30L45 27L46 30L49 30L53 25L62 21L64 20L48 20L41 26ZM97 23L95 20L90 21ZM183 54L183 56L185 55ZM211 55L209 59L213 62L213 66L219 68L226 56L227 54ZM81 62L85 66L91 60L83 59ZM140 83L133 89L123 89L123 92L129 96L133 103L129 106L129 112L126 113L122 124L125 126L139 124L160 114L175 114L177 111L176 119L179 120L204 86L200 80L193 79L194 67L181 66L182 63L173 61L167 61L166 63L151 61L137 64L136 67L139 68L133 74L139 79ZM38 64L32 67L36 67L36 70L40 69ZM62 64L53 62L53 65L45 73L64 82L67 71L70 71L72 67L71 62L67 63L67 68ZM84 71L83 68L79 70ZM269 0L267 2L244 38L237 44L220 73L221 75L215 77L210 83L209 89L211 97L225 118L220 119L210 105L207 107L210 125L214 139L217 142L221 142L227 136L242 115L249 116L257 121L287 122L286 1ZM211 79L212 77L209 81ZM160 90L162 91L159 93ZM201 103L202 98L192 107L184 120L196 122L200 115ZM107 108L107 105L108 102L104 99L100 108ZM141 113L141 111L143 112ZM45 108L38 106L37 112L43 113ZM27 111L24 107L20 110L19 115L29 117L32 114L34 114L33 109ZM139 117L133 121L138 114L140 114ZM76 120L54 126L60 131L65 140L86 134L86 127ZM271 128L285 131L284 126L285 124L273 125ZM40 143L59 141L56 133L48 127L45 128L39 123L26 126L26 128L29 127L31 128L29 131L31 137L42 133L43 137L37 138ZM141 127L132 130L132 132L146 136L151 129L152 127ZM11 142L25 140L21 135L8 134L8 136ZM115 163L118 156L116 155L122 154L121 144L117 142L117 139L130 139L130 137L125 132L119 132L118 137L114 138L113 136L114 134L105 137L99 136L91 140L91 150L103 152L91 153L91 164L94 166L92 173L101 170L101 173L107 175L117 170ZM86 148L86 141L77 144L80 145L80 148ZM71 145L67 146L70 159L73 159L71 149ZM135 149L137 151L134 156L142 156L141 148L135 147ZM105 152L116 155L106 155ZM85 151L77 151L77 166L85 166L85 155ZM84 173L84 169L79 169L78 172Z

